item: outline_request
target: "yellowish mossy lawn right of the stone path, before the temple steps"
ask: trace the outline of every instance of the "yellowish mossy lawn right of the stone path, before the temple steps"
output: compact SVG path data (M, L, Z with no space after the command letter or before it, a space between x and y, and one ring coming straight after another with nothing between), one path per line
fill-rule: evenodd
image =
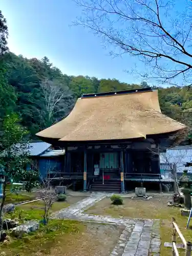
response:
M86 210L86 212L94 215L110 215L117 218L159 219L162 241L161 255L168 256L172 255L172 250L170 248L164 248L164 242L171 242L172 239L170 229L172 217L176 219L186 241L192 242L192 230L185 228L188 217L181 216L180 208L168 207L167 200L167 198L153 198L149 201L142 201L123 198L123 205L114 206L111 204L110 198L105 198ZM177 241L181 243L179 238ZM181 250L181 255L184 255L184 250Z

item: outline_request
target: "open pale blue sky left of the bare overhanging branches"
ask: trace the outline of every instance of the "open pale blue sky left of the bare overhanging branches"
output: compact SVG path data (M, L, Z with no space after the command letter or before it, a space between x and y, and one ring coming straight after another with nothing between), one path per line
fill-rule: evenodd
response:
M9 28L8 46L28 58L47 56L68 75L117 78L140 83L125 72L133 68L130 56L113 58L101 39L72 25L81 10L72 0L1 0Z

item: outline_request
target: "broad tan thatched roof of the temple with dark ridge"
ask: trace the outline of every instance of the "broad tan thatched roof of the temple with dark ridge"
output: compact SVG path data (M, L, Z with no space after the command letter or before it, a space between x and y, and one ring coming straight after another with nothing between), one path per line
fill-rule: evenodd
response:
M42 140L97 141L146 138L185 128L161 113L157 91L88 96L79 98L65 119L36 135Z

